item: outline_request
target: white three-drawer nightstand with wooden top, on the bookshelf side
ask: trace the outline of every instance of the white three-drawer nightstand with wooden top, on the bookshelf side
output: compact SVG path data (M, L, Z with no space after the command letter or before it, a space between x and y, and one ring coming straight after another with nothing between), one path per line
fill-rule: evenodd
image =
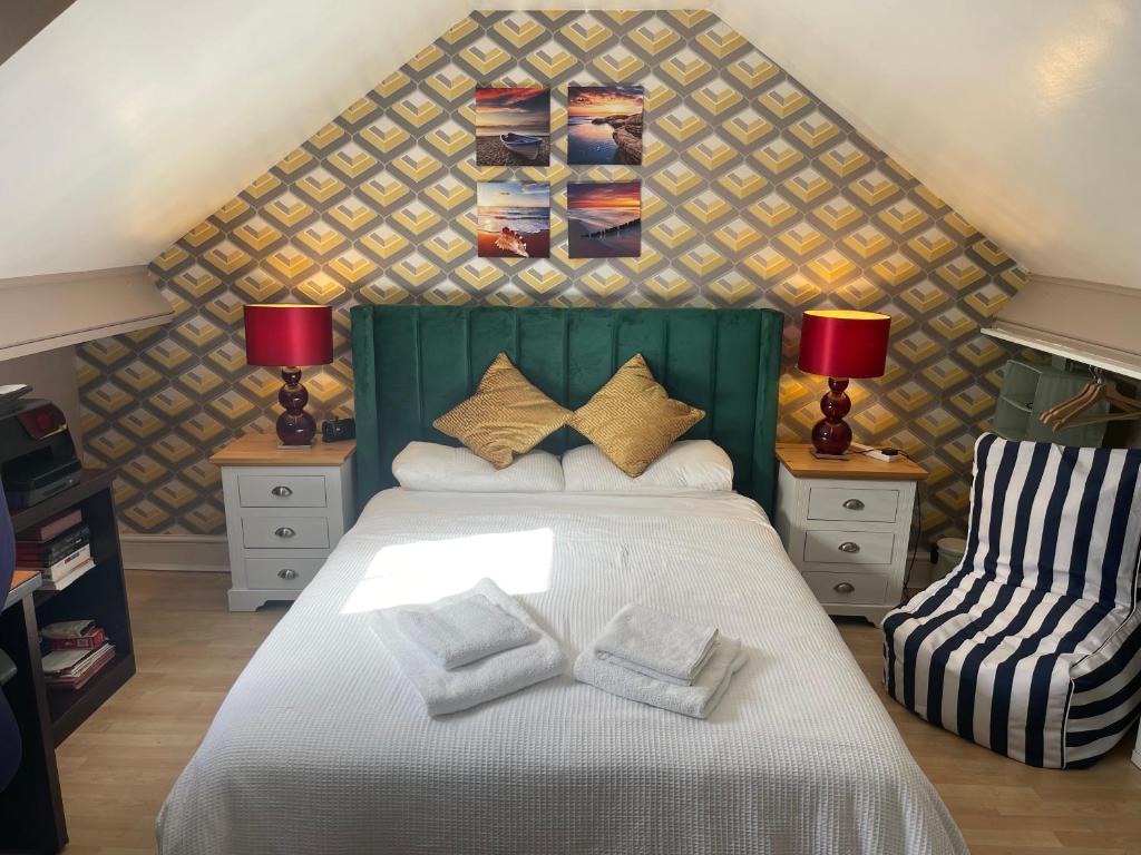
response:
M353 522L354 440L280 449L246 433L210 458L221 469L229 610L296 600Z

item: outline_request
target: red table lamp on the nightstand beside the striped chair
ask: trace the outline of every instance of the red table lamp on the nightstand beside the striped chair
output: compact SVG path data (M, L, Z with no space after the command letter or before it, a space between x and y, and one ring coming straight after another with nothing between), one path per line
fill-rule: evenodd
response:
M817 457L845 457L852 441L852 429L844 421L852 407L844 391L848 380L883 376L890 332L891 318L874 311L804 312L796 367L828 378L828 392L820 399L824 418L812 427Z

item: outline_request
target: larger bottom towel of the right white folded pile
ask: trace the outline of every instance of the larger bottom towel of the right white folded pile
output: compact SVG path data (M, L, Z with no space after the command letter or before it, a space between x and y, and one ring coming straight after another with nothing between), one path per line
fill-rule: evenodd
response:
M733 675L748 661L741 641L721 636L697 681L691 686L679 686L599 659L597 653L592 644L578 656L574 663L575 679L631 701L694 718L705 718L717 708Z

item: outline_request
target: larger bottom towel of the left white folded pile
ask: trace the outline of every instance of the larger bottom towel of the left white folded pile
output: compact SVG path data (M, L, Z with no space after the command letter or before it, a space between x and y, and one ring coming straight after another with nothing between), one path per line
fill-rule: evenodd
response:
M430 716L459 712L486 701L518 692L566 670L566 656L551 636L543 633L527 610L508 596L491 579L483 579L472 592L483 594L504 612L539 634L539 641L485 657L455 670L444 670L406 636L396 622L395 609L373 612L372 629L396 659L404 676L424 700ZM468 596L470 592L444 597L440 605Z

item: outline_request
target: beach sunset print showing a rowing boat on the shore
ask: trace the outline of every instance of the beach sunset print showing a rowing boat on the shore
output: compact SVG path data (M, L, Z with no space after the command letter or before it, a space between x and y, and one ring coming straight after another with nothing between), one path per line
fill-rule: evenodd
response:
M551 90L476 89L476 165L549 166Z

